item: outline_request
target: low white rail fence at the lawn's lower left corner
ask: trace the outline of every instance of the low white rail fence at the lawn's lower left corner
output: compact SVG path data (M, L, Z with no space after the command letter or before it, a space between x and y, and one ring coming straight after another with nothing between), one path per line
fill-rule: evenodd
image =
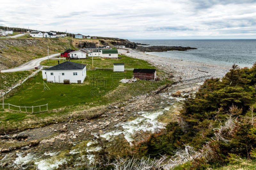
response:
M28 106L15 106L12 105L10 103L8 104L1 104L3 106L4 109L4 105L8 105L8 109L9 110L16 110L16 111L20 111L20 112L26 112L26 113L38 113L38 112L46 112L48 111L48 103L46 105L41 105L41 106L32 106L32 107L28 107ZM18 108L18 109L15 109Z

